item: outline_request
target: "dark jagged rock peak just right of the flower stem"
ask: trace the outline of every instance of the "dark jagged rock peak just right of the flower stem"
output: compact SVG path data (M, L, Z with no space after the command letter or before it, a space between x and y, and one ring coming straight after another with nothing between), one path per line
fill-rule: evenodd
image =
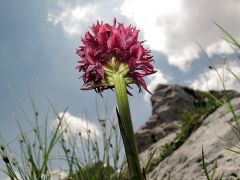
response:
M195 98L177 85L158 85L151 98L152 116L136 133L139 152L170 133L175 133L180 125L183 110L195 108Z

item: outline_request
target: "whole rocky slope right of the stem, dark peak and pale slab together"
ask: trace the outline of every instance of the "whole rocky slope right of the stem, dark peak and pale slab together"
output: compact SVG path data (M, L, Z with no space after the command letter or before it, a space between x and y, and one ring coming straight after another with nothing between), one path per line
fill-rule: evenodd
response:
M218 98L223 92L211 92ZM236 115L240 115L240 97L234 91L229 91L231 103ZM234 135L229 122L234 124L233 116L224 106L209 107L212 101L208 93L194 91L177 85L159 85L152 98L152 116L136 133L141 164L146 165L151 153L156 149L148 171L148 179L201 180L206 179L202 169L202 147L206 155L208 168L216 165L215 179L224 173L223 179L237 179L240 170L240 155L226 148L228 140L240 146L240 140ZM206 111L198 111L205 108ZM198 116L199 121L187 134L184 142L179 141L183 130L185 114ZM189 118L189 117L188 117ZM190 120L192 120L190 118ZM162 158L166 144L175 147L172 153ZM173 146L176 145L177 146Z

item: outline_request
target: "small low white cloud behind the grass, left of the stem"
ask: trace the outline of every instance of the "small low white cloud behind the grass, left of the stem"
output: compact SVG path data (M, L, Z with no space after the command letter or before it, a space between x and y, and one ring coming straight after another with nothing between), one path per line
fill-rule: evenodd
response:
M59 113L58 116L60 118L63 117L62 127L63 129L66 128L68 130L66 133L64 133L64 135L66 135L67 137L79 135L79 133L81 133L81 137L85 139L89 137L95 138L100 136L100 131L98 127L89 120L74 116L69 112L66 112L65 114ZM58 122L59 120L56 119L55 124L57 124Z

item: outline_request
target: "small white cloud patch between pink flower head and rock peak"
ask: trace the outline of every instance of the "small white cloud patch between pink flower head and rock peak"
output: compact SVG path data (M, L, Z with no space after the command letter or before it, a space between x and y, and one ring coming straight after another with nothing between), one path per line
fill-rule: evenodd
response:
M170 80L171 77L164 75L159 69L156 69L157 72L155 74L152 74L148 76L149 83L147 84L147 87L150 92L153 93L157 85L159 84L167 84ZM148 92L144 92L144 100L149 101L151 97L151 94Z

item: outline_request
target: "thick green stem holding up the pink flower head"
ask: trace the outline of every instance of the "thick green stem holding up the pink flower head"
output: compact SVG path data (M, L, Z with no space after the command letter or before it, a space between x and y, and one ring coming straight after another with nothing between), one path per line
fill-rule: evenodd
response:
M113 75L115 92L117 96L118 109L121 123L123 126L122 138L124 142L125 152L127 156L128 169L132 180L143 180L141 167L138 158L138 151L133 131L128 96L126 90L126 82L124 76L120 73ZM127 138L127 139L124 139Z

